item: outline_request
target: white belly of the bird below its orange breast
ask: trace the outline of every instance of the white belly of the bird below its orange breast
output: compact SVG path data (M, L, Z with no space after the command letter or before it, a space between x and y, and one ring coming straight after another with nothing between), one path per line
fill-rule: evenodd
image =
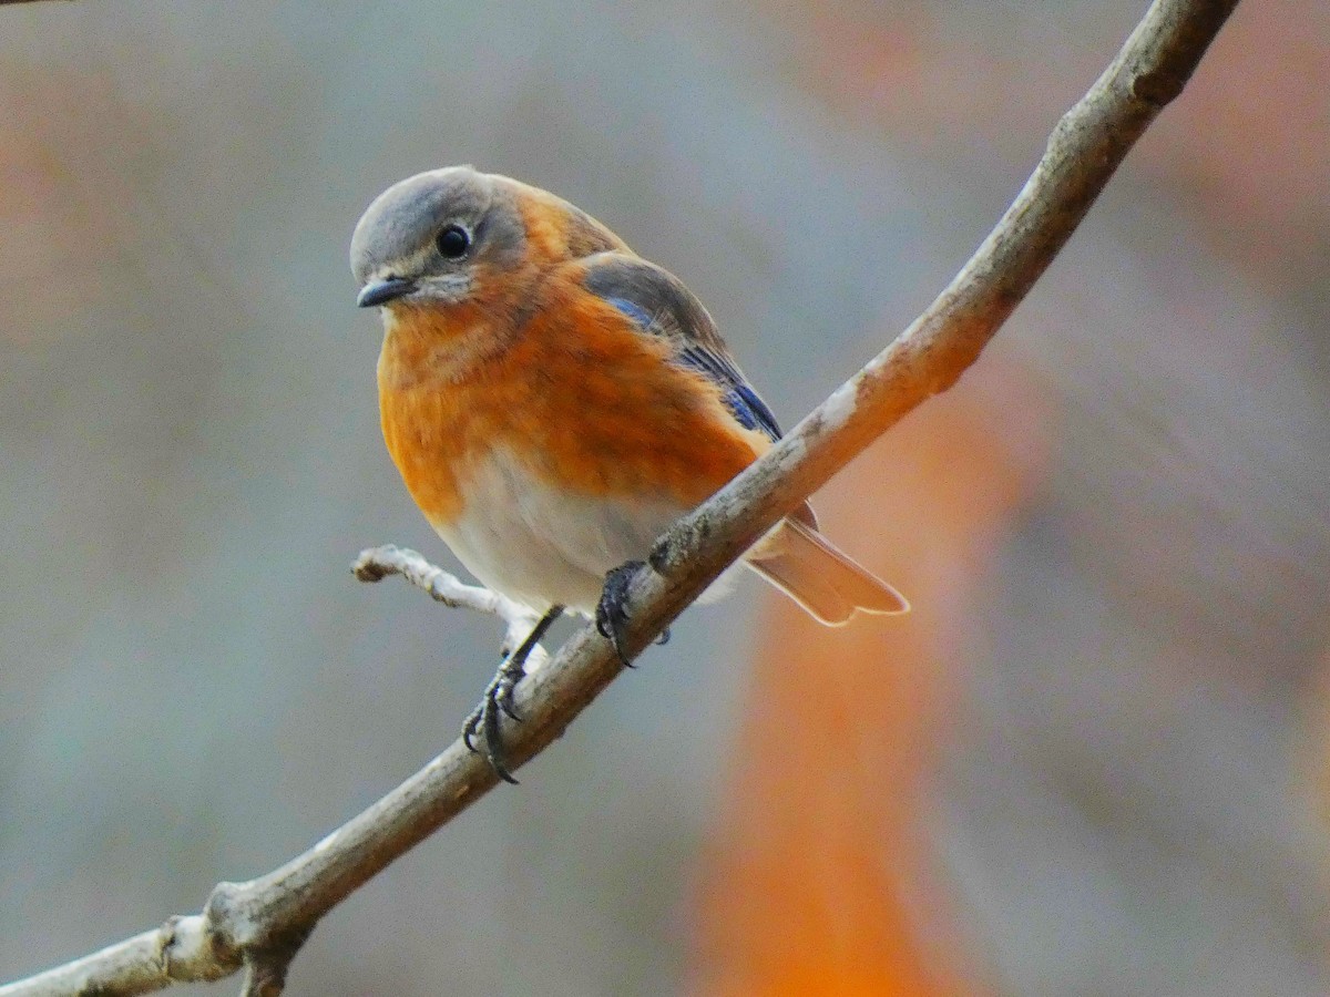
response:
M463 497L466 513L436 526L439 536L476 578L537 613L561 605L592 615L605 574L645 560L686 512L660 500L567 495L507 453L477 468Z

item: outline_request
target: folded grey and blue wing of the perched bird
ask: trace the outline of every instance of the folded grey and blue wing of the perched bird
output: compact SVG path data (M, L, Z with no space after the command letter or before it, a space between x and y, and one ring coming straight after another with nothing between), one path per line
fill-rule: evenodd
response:
M706 308L678 278L645 259L602 253L587 261L585 286L642 332L668 339L674 363L714 382L739 425L781 439L771 409L734 366Z

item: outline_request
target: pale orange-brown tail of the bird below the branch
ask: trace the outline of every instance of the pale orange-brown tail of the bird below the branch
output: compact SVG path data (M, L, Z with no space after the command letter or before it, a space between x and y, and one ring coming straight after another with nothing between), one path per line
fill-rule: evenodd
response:
M857 611L910 611L899 592L850 560L815 525L794 517L753 548L747 565L826 626L845 626Z

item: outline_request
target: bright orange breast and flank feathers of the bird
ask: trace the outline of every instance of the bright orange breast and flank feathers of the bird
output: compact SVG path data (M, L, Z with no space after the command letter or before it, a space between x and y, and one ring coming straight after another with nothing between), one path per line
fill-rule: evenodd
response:
M432 524L462 514L468 475L496 448L581 496L690 506L769 445L609 304L576 288L543 296L511 340L458 310L448 322L403 311L384 338L384 440Z

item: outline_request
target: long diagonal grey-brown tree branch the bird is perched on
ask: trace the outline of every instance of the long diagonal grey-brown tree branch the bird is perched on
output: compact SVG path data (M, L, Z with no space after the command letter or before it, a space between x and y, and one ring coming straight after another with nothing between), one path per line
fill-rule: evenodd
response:
M640 572L630 586L628 651L641 651L771 524L910 409L960 378L1136 140L1181 92L1236 5L1152 4L1117 58L1059 122L1016 201L938 299L789 436L661 540L652 556L654 570ZM418 568L400 573L424 581ZM432 581L422 588L451 592L451 585L436 589ZM436 598L472 605L469 596ZM575 634L517 687L525 720L503 728L513 764L553 742L621 667L592 627ZM496 782L481 755L454 743L305 855L259 879L218 884L201 915L0 988L0 997L138 994L177 980L215 980L241 965L247 969L245 993L278 994L286 965L323 915Z

